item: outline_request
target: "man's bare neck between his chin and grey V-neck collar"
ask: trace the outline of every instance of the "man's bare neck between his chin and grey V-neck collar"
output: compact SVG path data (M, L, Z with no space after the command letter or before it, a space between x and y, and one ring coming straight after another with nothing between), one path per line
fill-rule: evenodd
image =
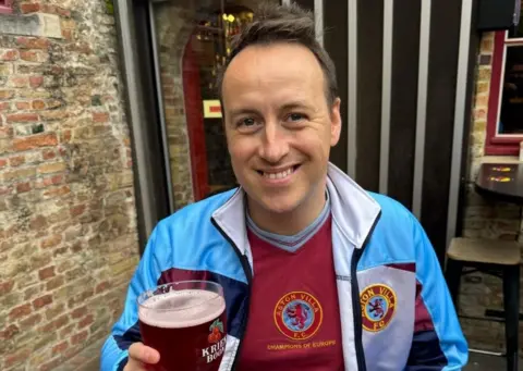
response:
M305 230L319 217L321 210L324 210L325 202L324 190L319 196L306 200L294 210L278 213L255 205L247 196L248 214L256 226L265 232L282 236L293 236Z

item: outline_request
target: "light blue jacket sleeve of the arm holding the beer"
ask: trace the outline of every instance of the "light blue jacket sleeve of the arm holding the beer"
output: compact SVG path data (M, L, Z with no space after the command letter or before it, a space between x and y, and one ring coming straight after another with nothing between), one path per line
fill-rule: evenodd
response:
M144 255L129 285L123 313L113 325L111 335L101 348L100 370L121 371L127 362L131 344L141 342L138 308L136 299L141 293L157 286L161 273L157 258L159 249L166 248L166 238L159 237L158 226L153 231Z

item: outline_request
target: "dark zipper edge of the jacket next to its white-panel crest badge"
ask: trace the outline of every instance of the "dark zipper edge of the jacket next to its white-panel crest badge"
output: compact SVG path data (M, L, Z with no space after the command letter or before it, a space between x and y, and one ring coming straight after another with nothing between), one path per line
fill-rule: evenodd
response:
M370 238L376 224L378 224L379 218L381 217L381 211L374 220L373 226L368 231L365 242L362 245L362 248L354 249L351 260L351 294L352 294L352 312L354 314L354 347L356 348L356 362L357 371L366 371L367 366L365 363L365 353L363 350L363 324L362 324L362 306L360 305L360 287L357 285L357 263L360 258L363 255L363 250L367 246L368 239Z

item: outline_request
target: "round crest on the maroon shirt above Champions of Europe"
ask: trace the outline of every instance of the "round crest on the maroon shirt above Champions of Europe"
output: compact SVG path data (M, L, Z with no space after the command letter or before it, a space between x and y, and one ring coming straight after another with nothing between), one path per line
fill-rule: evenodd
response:
M305 292L292 292L278 300L275 323L278 330L293 341L304 341L316 334L324 320L319 301Z

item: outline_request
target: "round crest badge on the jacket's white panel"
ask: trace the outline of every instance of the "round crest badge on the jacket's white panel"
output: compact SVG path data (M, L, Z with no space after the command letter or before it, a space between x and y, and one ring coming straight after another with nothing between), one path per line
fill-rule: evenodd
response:
M379 332L387 327L396 313L396 293L387 285L375 284L360 294L363 329Z

